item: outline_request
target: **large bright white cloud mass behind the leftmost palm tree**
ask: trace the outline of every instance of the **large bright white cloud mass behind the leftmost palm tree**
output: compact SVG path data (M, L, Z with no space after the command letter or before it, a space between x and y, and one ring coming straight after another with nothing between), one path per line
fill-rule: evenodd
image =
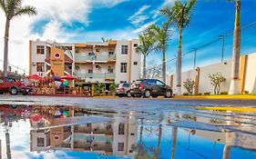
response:
M94 7L112 7L127 0L25 0L24 5L36 7L36 16L17 17L11 21L9 36L9 63L18 65L19 68L28 71L28 48L29 40L37 38L50 39L60 42L67 42L69 38L76 35L63 29L63 23L71 25L73 21L78 21L84 25L89 25L88 14ZM0 27L5 28L5 15L0 12ZM31 25L36 21L49 19L49 23L44 27L43 34L31 33ZM0 36L4 37L5 30L2 29ZM98 37L100 38L100 37ZM4 41L0 38L0 60L4 59ZM0 69L3 63L0 62ZM16 69L13 68L15 71ZM19 72L23 73L23 72Z

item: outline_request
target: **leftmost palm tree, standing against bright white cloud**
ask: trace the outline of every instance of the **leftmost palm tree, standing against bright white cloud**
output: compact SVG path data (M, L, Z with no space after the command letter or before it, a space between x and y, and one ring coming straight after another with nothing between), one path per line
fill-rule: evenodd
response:
M4 48L4 75L6 75L8 67L8 40L10 22L16 16L36 15L36 8L31 5L22 6L23 0L0 0L0 6L5 12L5 48Z

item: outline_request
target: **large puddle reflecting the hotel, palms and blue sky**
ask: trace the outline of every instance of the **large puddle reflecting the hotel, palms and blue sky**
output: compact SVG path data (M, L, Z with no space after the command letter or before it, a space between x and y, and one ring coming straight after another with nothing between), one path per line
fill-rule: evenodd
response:
M179 117L198 123L205 120L187 114ZM255 151L256 141L253 134L215 130L211 127L202 129L200 124L189 124L189 127L179 122L178 125L166 125L171 122L163 119L161 116L156 119L159 124L150 124L146 119L138 119L133 112L118 116L115 111L106 113L77 106L0 105L0 133L5 132L5 139L0 135L0 143L6 154L0 151L0 158L12 158L13 146L10 138L14 134L10 134L9 130L12 129L13 123L18 121L29 123L30 129L27 131L30 141L27 143L30 144L30 152L36 154L63 151L128 156L136 159L229 159L236 154L240 157L246 156L244 154L248 154L248 150ZM226 119L224 123L231 124L229 117ZM211 124L220 125L216 120L210 121ZM253 154L255 158L255 152L250 156Z

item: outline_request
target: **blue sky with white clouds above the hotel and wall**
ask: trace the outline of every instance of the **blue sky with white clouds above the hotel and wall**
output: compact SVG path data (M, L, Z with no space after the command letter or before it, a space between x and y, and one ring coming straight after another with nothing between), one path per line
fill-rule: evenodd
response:
M38 11L35 17L23 16L12 22L10 33L10 63L28 70L28 40L56 40L58 42L100 41L101 37L112 39L138 38L138 34L150 24L160 25L165 19L158 10L164 5L173 5L174 0L25 0ZM255 0L242 0L241 25L256 21ZM0 15L4 17L3 12ZM189 26L183 34L183 53L193 47L207 44L219 35L233 30L234 4L225 0L199 0L193 9ZM4 28L4 20L1 21ZM172 29L167 60L177 54L178 34ZM3 30L3 29L2 29ZM4 35L4 32L1 32ZM255 52L256 25L242 30L241 53ZM0 46L3 42L0 41ZM210 65L220 61L221 40L198 50L198 65ZM225 59L231 57L232 35L226 38ZM19 52L17 58L17 53ZM3 59L3 53L0 58ZM18 59L18 60L17 60ZM154 59L154 61L152 61ZM159 65L161 54L152 53L148 63ZM193 66L193 54L184 56L183 70ZM168 72L175 71L175 61L168 63Z

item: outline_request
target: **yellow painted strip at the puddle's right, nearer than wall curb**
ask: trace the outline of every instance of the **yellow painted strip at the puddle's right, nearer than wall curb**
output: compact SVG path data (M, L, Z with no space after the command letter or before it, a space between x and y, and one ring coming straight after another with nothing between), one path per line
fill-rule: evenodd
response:
M197 107L197 109L256 113L256 107Z

